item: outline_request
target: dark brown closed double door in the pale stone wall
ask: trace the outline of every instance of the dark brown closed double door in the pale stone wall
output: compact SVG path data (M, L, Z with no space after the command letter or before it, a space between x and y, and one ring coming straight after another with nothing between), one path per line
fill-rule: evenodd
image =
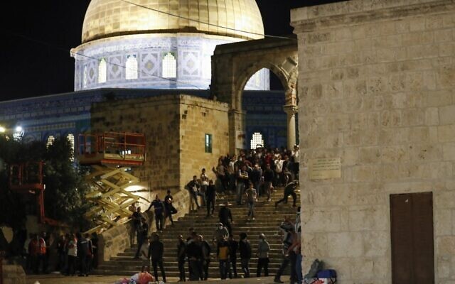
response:
M390 195L392 283L434 283L433 192Z

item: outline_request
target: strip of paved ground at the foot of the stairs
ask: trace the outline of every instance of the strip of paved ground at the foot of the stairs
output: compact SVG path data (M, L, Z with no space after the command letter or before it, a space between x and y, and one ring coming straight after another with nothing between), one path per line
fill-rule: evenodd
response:
M131 275L130 275L131 276ZM89 277L70 277L62 276L59 274L47 274L47 275L28 275L27 284L35 284L36 281L40 284L113 284L115 281L120 278L125 278L125 276L103 276L103 275L90 275ZM178 278L168 279L168 283L177 283ZM223 281L223 282L222 282ZM218 279L209 279L210 283L230 283L230 284L269 284L274 283L273 277L263 277L263 278L248 278L248 279L228 279L220 280ZM207 281L194 281L191 283L207 283Z

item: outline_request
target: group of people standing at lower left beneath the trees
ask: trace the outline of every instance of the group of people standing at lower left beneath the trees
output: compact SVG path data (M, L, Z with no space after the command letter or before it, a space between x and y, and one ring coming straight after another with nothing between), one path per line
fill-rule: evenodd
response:
M97 267L97 234L65 234L51 239L45 232L30 234L24 244L26 271L49 273L50 254L55 249L55 271L64 275L88 276Z

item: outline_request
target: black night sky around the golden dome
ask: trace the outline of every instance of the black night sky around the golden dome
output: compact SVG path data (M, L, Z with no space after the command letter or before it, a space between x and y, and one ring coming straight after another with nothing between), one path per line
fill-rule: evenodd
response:
M339 0L257 0L268 35L289 35L289 10ZM0 101L73 91L74 60L90 0L2 3ZM9 16L6 16L9 13ZM38 41L36 41L38 40ZM272 89L279 86L272 79Z

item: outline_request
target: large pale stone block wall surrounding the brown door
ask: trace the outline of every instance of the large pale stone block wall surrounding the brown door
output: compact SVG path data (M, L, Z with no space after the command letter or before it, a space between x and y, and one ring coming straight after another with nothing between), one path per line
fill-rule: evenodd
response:
M455 1L353 0L295 9L304 271L391 283L390 194L433 192L436 283L455 279Z

